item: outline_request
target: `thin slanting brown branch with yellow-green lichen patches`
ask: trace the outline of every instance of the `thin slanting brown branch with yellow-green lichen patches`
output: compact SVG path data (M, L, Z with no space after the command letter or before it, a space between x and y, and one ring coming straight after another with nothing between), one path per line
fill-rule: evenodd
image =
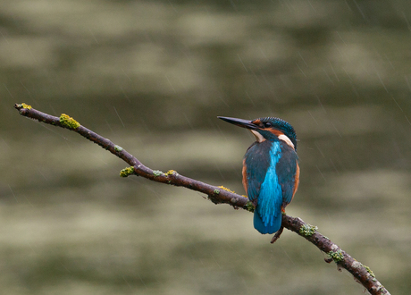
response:
M202 181L196 181L172 170L167 173L162 173L148 168L144 164L141 164L135 156L130 155L124 148L113 144L112 141L105 139L96 132L81 126L79 122L66 114L62 114L60 117L55 117L50 114L39 112L26 104L16 104L14 107L22 116L77 132L86 139L91 140L100 147L110 151L113 155L120 157L124 162L131 166L122 170L122 177L135 174L151 181L172 184L174 186L185 187L189 190L197 190L205 193L214 204L224 203L229 204L236 209L243 208L247 211L254 210L254 207L248 202L247 198L233 193L224 187L216 187ZM334 261L338 265L339 270L342 268L348 270L348 272L354 276L356 282L361 283L371 294L390 294L390 292L378 282L368 266L356 261L356 259L349 256L347 252L340 249L340 247L334 244L330 239L323 236L320 232L317 232L316 226L305 223L298 217L291 217L289 215L282 215L281 226L291 232L296 232L299 236L310 241L318 249L325 252L329 257L325 259L325 262L331 263ZM278 234L274 235L272 243L280 237L281 232L282 231L279 231Z

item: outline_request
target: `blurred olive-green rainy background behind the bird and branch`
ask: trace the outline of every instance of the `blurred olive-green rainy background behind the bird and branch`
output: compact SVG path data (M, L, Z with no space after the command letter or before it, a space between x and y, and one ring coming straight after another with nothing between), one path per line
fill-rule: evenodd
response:
M243 194L249 132L297 131L287 213L411 288L409 0L0 3L2 294L362 294L285 231L13 109L70 114L153 169Z

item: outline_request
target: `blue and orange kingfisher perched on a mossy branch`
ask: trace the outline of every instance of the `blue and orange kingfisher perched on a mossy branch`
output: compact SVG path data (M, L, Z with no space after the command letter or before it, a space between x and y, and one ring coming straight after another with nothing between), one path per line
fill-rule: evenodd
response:
M254 227L261 233L281 229L282 213L298 189L299 166L297 135L289 122L264 117L247 121L218 117L247 128L256 141L247 148L243 159L242 183L255 206Z

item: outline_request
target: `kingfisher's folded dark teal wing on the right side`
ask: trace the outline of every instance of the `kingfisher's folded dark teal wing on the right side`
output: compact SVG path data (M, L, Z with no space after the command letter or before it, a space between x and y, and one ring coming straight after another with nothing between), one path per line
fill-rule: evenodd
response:
M278 180L282 190L282 202L289 204L298 189L298 156L292 147L283 145L281 158L276 165Z

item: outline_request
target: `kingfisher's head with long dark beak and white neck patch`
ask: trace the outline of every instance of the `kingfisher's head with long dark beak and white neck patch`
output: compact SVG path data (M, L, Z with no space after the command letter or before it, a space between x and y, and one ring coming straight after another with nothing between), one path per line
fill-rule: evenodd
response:
M251 131L258 142L264 140L284 140L289 146L297 150L297 135L294 128L289 122L280 118L264 117L255 120L247 121L243 119L218 117L225 122L237 125L239 127L247 128Z

